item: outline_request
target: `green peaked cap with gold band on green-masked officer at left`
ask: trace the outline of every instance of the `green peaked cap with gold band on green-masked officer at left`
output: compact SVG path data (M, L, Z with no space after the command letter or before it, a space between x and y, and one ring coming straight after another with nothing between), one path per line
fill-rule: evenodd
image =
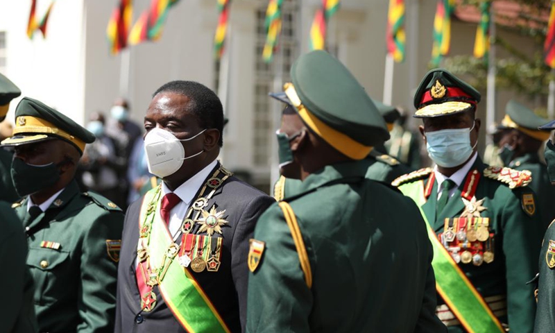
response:
M83 154L85 144L94 142L94 135L65 114L48 105L24 97L15 109L13 137L3 140L3 146L19 146L47 139L62 139L76 146Z

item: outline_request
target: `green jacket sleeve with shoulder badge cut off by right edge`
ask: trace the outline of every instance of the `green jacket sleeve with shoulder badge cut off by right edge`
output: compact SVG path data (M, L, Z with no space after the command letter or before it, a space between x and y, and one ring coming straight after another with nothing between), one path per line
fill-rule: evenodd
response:
M551 223L543 237L538 275L538 309L533 332L555 330L555 223Z

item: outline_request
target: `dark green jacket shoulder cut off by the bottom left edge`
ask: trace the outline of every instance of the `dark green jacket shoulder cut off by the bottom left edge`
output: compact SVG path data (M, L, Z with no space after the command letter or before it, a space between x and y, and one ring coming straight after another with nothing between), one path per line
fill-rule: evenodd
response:
M4 301L0 303L0 332L38 332L33 307L33 279L25 264L27 244L22 222L8 203L0 202L0 262Z

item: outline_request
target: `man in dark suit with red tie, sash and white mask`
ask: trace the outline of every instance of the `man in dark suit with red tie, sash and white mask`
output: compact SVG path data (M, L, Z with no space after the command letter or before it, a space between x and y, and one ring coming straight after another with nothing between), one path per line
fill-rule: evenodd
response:
M163 85L144 127L149 171L163 181L126 214L115 332L241 332L248 241L275 201L216 160L223 110L207 87Z

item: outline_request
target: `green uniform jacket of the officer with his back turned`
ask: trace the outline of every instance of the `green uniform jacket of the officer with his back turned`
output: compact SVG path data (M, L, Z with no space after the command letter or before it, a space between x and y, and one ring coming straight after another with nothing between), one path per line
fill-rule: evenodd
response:
M311 287L278 203L260 217L255 239L266 246L250 267L247 332L445 332L425 223L411 200L365 178L369 163L327 166L284 198Z

